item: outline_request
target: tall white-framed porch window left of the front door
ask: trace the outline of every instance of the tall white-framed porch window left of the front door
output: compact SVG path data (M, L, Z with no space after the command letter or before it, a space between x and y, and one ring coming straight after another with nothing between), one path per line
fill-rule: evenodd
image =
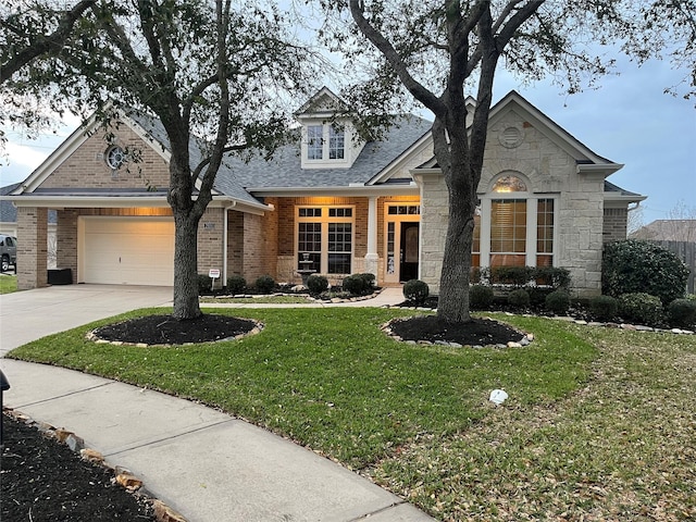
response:
M301 207L297 209L297 268L309 254L309 269L320 274L350 274L352 269L351 207Z

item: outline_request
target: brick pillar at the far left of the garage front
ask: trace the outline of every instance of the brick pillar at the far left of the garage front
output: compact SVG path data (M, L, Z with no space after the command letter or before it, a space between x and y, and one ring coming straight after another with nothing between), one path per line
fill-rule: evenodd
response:
M48 284L48 210L17 208L17 288Z

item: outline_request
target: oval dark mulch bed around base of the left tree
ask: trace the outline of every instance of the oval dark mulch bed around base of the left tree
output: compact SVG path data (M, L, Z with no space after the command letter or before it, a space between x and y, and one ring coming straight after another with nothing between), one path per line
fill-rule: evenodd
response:
M146 345L183 345L208 343L248 334L257 323L229 315L203 314L198 319L177 321L171 315L146 315L95 331L104 340L145 343Z

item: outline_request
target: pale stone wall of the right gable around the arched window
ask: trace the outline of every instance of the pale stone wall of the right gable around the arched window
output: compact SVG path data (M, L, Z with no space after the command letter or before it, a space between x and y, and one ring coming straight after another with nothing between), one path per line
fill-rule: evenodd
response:
M511 144L509 129L519 140ZM514 134L514 133L512 133ZM601 289L604 175L579 174L576 160L514 111L492 122L478 194L488 194L501 173L521 175L534 197L556 199L557 266L570 270L574 293L597 295ZM423 201L421 215L421 278L434 294L448 223L448 191L442 174L417 175ZM486 216L484 216L486 219Z

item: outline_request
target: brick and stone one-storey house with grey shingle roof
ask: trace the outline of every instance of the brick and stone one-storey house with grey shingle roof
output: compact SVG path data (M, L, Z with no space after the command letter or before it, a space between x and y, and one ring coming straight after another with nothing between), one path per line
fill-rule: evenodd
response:
M299 282L308 257L334 282L371 272L380 285L419 277L438 291L448 196L431 122L403 116L361 142L348 119L330 123L339 105L323 88L297 113L298 144L270 161L226 159L199 225L200 273ZM112 132L107 141L96 125L76 130L9 196L21 288L46 284L50 209L58 266L75 283L172 285L166 135L138 114L123 114ZM137 163L127 161L133 149ZM564 266L577 294L598 294L602 244L625 238L627 207L645 199L606 181L622 166L508 94L490 111L474 265Z

